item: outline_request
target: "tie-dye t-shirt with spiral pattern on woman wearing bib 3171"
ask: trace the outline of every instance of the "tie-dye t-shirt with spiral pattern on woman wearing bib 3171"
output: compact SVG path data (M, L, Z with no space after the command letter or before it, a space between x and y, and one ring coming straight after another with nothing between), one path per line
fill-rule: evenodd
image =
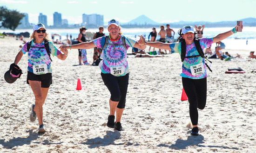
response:
M122 36L118 41L111 41L108 39L108 43L110 44L122 44ZM128 40L127 40L128 39ZM135 40L131 38L125 39L126 48L133 47L136 43ZM100 37L97 39L94 39L94 44L97 46L97 48L103 49L103 46L105 44L105 37ZM122 45L115 46L114 51L114 45L108 45L103 51L103 66L101 67L102 73L110 73L111 67L117 67L117 66L124 66L125 72L120 76L125 76L127 73L129 73L128 68L128 61L127 61L127 51ZM101 54L102 54L101 53ZM118 76L118 77L120 77Z

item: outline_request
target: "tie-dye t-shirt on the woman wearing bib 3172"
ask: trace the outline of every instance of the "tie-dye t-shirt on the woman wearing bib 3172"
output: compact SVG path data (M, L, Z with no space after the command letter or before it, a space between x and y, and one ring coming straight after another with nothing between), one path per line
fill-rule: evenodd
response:
M201 38L199 39L200 45L202 47L202 50L204 48L210 47L213 42L213 38ZM170 48L172 53L179 53L181 55L181 42L179 43L172 43L170 44ZM195 43L191 45L186 45L186 57L188 56L196 56L199 55L198 51L196 50ZM203 63L204 66L204 73L193 76L190 70L190 66L201 64ZM206 67L204 63L204 59L202 57L194 57L194 58L185 58L182 64L182 73L180 75L181 77L188 77L191 79L202 79L207 77Z

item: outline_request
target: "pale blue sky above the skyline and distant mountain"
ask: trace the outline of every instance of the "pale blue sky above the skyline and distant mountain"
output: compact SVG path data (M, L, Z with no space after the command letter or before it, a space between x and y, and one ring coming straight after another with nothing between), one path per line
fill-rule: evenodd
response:
M82 22L82 14L104 15L104 22L128 22L144 14L158 23L177 21L235 21L256 18L256 0L0 0L0 6L28 13L36 24L39 13L53 25L53 13L62 14L68 24Z

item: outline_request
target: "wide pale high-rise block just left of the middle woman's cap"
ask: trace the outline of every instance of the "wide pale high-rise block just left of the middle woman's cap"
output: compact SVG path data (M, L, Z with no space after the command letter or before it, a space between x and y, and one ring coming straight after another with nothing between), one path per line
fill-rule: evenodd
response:
M99 14L83 14L82 15L82 24L85 24L85 26L88 25L95 25L95 26L103 26L103 15Z

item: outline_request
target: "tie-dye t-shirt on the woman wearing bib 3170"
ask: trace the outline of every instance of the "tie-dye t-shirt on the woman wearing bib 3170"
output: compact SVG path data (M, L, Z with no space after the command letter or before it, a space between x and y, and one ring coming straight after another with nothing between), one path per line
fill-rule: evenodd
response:
M23 52L23 54L26 54L27 52L27 56L28 56L27 70L33 73L33 65L47 64L48 73L52 73L51 60L47 54L46 49L33 47L33 46L44 47L44 41L40 44L36 44L34 43L34 40L32 40L29 51L27 51L27 43L21 48L21 51ZM48 44L49 44L49 50L52 56L58 56L59 54L61 54L61 51L59 51L52 42L49 41Z

